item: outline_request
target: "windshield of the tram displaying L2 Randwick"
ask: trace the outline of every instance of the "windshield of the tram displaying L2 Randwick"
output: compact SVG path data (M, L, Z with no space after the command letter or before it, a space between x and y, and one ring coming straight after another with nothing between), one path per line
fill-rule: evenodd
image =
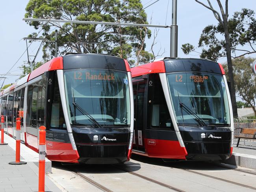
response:
M126 72L76 69L64 72L73 126L130 126L130 91Z

